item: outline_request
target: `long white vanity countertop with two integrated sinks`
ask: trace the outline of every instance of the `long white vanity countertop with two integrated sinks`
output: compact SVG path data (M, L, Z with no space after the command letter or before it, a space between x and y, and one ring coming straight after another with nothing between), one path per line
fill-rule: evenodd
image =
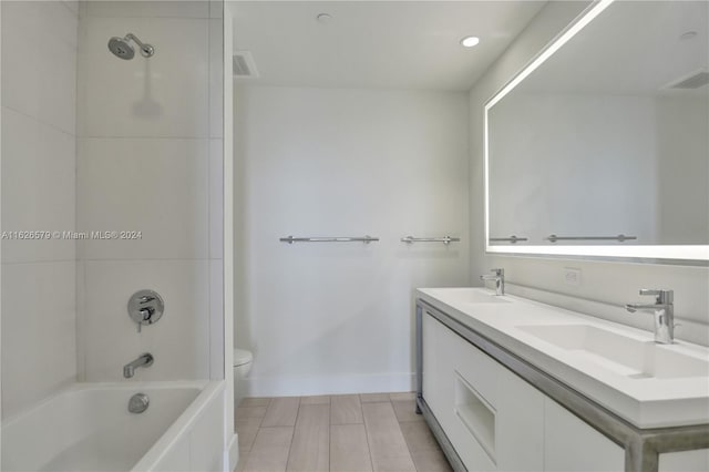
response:
M709 423L709 348L658 345L649 331L484 288L421 288L417 298L638 428ZM578 349L594 342L595 352ZM633 368L644 362L650 373Z

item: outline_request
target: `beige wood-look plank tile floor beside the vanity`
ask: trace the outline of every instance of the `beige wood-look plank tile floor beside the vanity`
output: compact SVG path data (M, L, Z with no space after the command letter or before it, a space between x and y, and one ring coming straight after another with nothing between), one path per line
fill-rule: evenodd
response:
M246 398L239 472L448 472L413 393Z

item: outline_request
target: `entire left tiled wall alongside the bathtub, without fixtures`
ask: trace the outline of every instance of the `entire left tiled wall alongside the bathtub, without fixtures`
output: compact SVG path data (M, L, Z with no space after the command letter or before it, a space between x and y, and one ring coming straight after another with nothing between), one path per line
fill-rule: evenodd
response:
M75 2L3 1L2 230L75 223ZM75 380L75 244L2 240L2 415Z

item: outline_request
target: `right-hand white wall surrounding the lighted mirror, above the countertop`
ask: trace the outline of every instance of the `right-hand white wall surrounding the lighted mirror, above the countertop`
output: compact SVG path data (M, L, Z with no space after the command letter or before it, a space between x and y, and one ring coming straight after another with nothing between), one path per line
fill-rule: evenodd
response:
M553 37L572 21L586 2L552 2L530 23L470 93L471 105L471 283L477 274L504 267L508 283L597 300L615 306L604 314L619 322L651 329L651 317L625 314L621 305L638 299L639 288L675 289L676 316L684 326L676 336L709 343L709 269L615 261L582 261L487 255L484 250L483 207L483 105ZM578 287L563 283L564 267L582 269ZM511 286L514 290L515 287ZM572 304L573 301L568 301ZM593 314L593 312L592 312ZM682 322L684 321L684 322Z

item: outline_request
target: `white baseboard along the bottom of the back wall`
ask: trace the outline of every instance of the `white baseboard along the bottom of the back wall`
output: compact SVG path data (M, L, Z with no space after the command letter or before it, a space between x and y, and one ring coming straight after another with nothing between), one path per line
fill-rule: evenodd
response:
M242 381L248 397L301 397L338 393L409 392L414 389L415 374L411 372L248 377Z

